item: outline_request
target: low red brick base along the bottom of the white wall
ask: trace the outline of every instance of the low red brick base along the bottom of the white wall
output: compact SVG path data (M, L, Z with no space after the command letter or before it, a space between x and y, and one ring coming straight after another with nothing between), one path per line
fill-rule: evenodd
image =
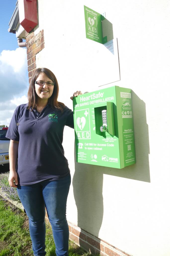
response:
M48 220L47 213L45 215L46 221ZM93 255L100 254L101 256L132 256L129 255L111 244L93 236L87 231L68 222L69 225L69 239L75 244L82 247L85 251Z

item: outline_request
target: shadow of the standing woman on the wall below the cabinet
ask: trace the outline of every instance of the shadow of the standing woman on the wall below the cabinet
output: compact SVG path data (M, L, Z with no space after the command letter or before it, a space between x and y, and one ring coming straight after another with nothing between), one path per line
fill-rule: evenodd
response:
M73 192L77 206L77 226L98 237L103 220L103 168L89 164L76 163L73 177ZM81 240L79 244L85 247ZM88 248L87 248L88 250Z

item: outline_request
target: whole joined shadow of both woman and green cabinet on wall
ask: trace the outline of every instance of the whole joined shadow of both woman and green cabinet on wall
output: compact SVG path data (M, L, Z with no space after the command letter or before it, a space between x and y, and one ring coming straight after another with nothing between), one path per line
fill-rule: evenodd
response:
M103 219L103 174L150 182L149 133L146 123L146 107L145 103L134 92L132 92L132 99L136 164L123 169L116 169L76 163L75 156L73 191L77 206L77 225L96 237L99 236ZM80 246L84 246L84 242L81 239Z

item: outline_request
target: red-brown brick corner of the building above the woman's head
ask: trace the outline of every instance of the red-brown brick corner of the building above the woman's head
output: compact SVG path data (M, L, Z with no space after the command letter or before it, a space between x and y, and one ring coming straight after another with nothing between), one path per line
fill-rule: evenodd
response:
M44 30L40 31L36 36L34 32L26 32L27 60L28 60L28 77L29 83L36 69L36 54L44 48Z

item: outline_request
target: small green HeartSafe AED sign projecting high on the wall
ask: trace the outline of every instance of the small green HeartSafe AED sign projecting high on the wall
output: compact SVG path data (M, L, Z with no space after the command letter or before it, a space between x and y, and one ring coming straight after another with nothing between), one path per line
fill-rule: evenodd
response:
M103 44L102 20L105 19L100 13L84 5L86 38Z

